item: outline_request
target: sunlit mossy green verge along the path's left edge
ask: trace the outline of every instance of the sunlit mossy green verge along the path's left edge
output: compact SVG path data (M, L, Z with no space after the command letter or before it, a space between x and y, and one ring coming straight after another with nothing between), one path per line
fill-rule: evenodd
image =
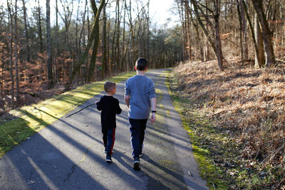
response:
M107 80L119 83L133 75L135 75L134 72L123 73ZM46 125L51 125L78 105L98 95L103 91L105 81L86 84L38 104L11 110L9 115L14 119L8 122L1 121L0 125L0 157L28 139L31 134L38 132Z

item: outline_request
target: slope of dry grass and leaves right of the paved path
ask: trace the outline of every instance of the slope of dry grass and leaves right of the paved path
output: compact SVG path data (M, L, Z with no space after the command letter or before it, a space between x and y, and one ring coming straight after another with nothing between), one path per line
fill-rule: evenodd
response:
M170 84L202 175L217 189L285 189L285 65L227 62L185 63Z

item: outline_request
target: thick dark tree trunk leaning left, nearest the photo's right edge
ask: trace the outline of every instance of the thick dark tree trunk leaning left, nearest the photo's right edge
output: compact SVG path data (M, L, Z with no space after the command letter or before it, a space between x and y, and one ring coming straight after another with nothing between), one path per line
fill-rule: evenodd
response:
M252 0L254 9L257 11L257 16L261 25L261 34L264 41L264 49L266 53L266 63L265 66L269 67L275 63L275 56L273 51L273 45L271 40L271 33L269 30L268 22L264 14L262 0Z

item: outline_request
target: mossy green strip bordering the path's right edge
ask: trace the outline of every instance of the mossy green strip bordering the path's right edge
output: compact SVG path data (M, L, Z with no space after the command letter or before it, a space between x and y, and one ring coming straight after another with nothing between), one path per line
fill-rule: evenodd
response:
M227 168L233 167L230 162L224 162L212 157L212 151L217 154L227 154L227 150L223 147L234 149L234 143L219 129L213 127L209 120L199 115L199 110L192 107L187 93L177 91L177 83L173 80L172 73L167 75L167 86L170 90L172 101L175 109L182 117L182 123L185 130L190 135L192 141L193 154L199 164L200 176L207 181L210 189L229 189L234 187L234 183L224 177L227 171L221 167L217 167L215 162L224 164ZM222 145L222 146L221 146ZM237 155L232 155L237 157Z

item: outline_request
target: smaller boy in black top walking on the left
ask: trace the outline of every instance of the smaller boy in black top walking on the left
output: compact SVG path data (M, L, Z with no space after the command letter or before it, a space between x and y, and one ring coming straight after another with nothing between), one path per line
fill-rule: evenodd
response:
M115 115L120 114L119 100L113 95L116 92L116 85L113 82L107 81L104 85L104 90L107 93L100 98L100 101L95 101L97 109L101 112L101 126L103 133L103 143L105 147L106 162L111 163L113 154L113 146L115 142Z

